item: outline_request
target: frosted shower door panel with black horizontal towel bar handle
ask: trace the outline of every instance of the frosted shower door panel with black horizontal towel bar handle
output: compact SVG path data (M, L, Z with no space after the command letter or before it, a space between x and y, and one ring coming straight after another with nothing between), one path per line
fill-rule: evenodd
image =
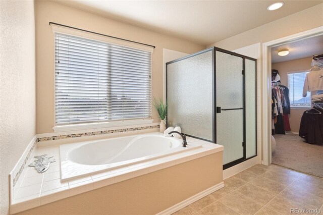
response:
M243 58L216 51L216 143L224 146L223 165L244 158Z

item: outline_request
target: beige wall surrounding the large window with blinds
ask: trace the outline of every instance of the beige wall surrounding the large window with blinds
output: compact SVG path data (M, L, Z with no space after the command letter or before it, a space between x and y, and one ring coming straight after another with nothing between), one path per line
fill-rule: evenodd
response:
M193 53L205 48L175 37L155 33L51 1L35 2L36 16L36 110L37 133L53 132L54 34L48 22L155 45L152 55L152 95L163 97L163 48ZM152 116L157 120L157 115Z

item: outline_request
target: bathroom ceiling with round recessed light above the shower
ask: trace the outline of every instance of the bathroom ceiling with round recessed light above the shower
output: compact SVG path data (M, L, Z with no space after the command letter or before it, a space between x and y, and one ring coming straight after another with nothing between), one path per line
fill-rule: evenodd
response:
M323 0L285 0L282 8L267 11L269 5L279 1L56 0L74 8L201 45L221 41L323 3Z

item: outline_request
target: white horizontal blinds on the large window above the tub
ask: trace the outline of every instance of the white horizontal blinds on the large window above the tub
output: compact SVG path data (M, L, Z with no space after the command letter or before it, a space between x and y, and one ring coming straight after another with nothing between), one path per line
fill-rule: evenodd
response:
M151 118L151 52L55 33L56 125Z

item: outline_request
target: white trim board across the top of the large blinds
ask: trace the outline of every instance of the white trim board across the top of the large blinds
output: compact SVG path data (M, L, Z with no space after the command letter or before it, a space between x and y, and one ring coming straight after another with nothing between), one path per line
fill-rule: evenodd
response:
M143 45L143 44L138 44L130 41L125 41L117 38L112 38L112 37L107 37L103 35L98 35L90 32L85 32L73 28L68 28L64 26L59 26L52 24L50 25L52 28L52 32L57 32L57 33L63 33L63 34L68 34L72 36L79 36L87 39L94 39L102 42L107 42L107 43L113 43L117 45L122 45L122 46L127 46L130 48L137 48L145 51L150 51L151 53L153 52L153 47L148 46L148 45Z

